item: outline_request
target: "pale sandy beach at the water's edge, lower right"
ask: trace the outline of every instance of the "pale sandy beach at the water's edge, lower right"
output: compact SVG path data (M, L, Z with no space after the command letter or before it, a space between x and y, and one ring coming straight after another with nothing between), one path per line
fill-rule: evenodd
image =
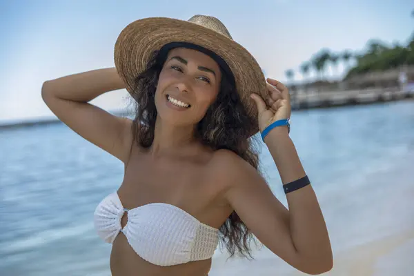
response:
M222 261L213 265L209 275L307 275L284 264L264 250L269 256L253 262ZM333 276L391 276L413 275L414 230L398 233L373 242L335 252L334 267L323 275Z

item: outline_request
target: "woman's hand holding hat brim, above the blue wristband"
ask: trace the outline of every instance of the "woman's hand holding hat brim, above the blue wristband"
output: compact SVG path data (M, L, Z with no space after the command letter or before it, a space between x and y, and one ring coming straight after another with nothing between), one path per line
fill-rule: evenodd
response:
M267 104L259 95L255 93L250 95L257 106L260 132L274 121L288 119L291 111L288 88L275 79L268 78L266 81L268 81L266 86L269 94Z

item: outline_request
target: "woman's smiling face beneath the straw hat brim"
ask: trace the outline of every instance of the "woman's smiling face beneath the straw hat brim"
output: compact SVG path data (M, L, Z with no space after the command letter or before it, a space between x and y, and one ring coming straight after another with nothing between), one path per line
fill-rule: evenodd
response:
M219 65L202 52L187 48L170 50L159 75L155 106L163 121L194 126L219 93Z

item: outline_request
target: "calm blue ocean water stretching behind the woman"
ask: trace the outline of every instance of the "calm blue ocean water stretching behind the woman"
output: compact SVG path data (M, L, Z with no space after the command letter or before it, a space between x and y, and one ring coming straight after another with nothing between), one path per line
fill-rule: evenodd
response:
M414 101L297 111L290 137L335 251L414 228ZM266 179L287 206L261 150ZM110 245L92 215L123 173L120 161L63 124L0 128L0 275L110 275ZM217 250L210 275L232 266L224 255ZM231 271L222 275L241 275Z

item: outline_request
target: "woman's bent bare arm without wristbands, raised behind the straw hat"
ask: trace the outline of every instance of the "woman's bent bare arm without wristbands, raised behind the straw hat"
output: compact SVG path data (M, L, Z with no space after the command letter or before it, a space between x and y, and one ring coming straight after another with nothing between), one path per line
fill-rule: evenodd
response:
M41 96L52 112L81 137L126 163L132 121L111 115L88 101L125 88L115 68L82 72L43 83Z

